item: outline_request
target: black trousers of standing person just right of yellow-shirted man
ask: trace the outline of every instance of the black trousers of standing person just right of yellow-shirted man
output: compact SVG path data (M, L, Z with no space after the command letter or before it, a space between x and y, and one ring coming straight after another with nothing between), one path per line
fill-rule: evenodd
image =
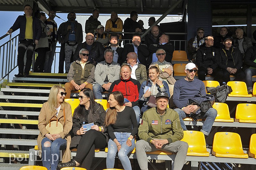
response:
M48 47L44 47L44 48L37 48L37 57L36 57L36 62L34 65L34 71L39 69L40 73L44 72L44 62L45 62L45 55L46 52L48 51Z

